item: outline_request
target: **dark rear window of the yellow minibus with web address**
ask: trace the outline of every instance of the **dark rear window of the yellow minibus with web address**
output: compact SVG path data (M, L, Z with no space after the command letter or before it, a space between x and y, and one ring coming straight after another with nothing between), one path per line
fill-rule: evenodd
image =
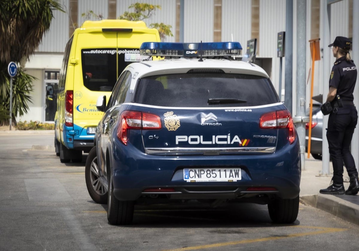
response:
M133 48L95 48L82 49L81 61L84 86L87 89L112 91L118 74L130 63L141 61L141 57L140 51Z

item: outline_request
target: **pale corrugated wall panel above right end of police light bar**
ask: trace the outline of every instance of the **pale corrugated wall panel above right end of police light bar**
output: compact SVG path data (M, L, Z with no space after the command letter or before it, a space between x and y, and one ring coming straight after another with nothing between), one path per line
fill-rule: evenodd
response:
M222 0L222 41L232 41L233 34L233 41L241 43L244 52L251 39L251 7L248 0Z

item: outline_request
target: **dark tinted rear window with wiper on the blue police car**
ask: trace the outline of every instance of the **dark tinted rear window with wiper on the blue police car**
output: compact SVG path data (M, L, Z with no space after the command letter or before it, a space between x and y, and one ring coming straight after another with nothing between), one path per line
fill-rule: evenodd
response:
M176 107L257 106L278 103L269 79L244 74L171 74L140 80L135 102Z

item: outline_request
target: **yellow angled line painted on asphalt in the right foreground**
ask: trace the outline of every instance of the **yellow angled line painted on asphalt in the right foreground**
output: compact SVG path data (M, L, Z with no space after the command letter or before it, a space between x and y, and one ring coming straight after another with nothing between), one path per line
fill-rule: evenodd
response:
M205 249L205 248L234 246L234 245L238 245L238 244L246 244L246 243L253 243L253 242L281 240L281 239L285 239L285 238L302 237L302 236L307 236L307 235L320 235L320 234L324 234L324 233L334 233L334 232L341 232L341 231L348 230L345 228L330 228L330 227L311 227L311 226L293 226L293 227L309 228L309 229L322 229L322 230L321 231L304 232L304 233L292 233L292 234L289 234L286 236L273 236L273 237L256 238L256 239L249 239L249 240L242 240L242 241L230 241L230 242L214 243L214 244L201 245L201 246L175 248L175 249L168 249L168 250L163 250L163 251L199 250L199 249Z

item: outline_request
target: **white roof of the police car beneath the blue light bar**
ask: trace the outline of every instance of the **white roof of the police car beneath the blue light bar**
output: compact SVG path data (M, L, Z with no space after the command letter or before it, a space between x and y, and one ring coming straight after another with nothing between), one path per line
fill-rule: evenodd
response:
M139 78L186 73L192 69L221 69L229 74L248 74L269 78L268 74L259 66L253 63L227 59L203 58L203 62L198 58L177 58L165 60L153 60L131 63L124 71L132 72L130 90L135 89Z

